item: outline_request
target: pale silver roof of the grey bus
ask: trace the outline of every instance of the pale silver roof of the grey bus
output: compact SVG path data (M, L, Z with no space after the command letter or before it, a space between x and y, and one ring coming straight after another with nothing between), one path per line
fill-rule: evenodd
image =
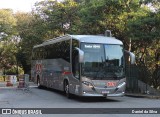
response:
M40 45L34 46L34 48L50 45L56 42L61 42L68 39L76 39L79 42L85 42L85 43L97 43L97 44L119 44L123 45L122 41L114 38L114 37L106 37L106 36L100 36L100 35L64 35L57 38L53 38L50 40L47 40L43 42Z

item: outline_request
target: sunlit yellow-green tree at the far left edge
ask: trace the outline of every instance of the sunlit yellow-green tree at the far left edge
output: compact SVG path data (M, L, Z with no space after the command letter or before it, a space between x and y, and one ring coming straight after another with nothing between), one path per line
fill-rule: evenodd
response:
M12 10L0 9L0 69L10 69L16 64L16 19Z

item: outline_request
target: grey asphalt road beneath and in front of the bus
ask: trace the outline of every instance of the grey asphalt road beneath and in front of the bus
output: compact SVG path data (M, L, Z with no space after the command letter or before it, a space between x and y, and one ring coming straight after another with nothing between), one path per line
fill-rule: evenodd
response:
M125 114L120 112L115 114L103 114L103 109L114 108L158 108L160 109L160 99L148 99L148 98L135 98L135 97L110 97L108 99L103 98L81 98L74 97L73 99L67 99L62 92L51 89L38 89L36 86L30 87L30 89L22 90L16 87L5 88L0 87L0 108L64 108L70 109L71 113L77 112L77 114L66 114L63 110L62 114L45 114L38 115L41 117L159 117L160 114ZM88 114L83 113L83 108L87 108ZM94 109L93 109L94 108ZM95 110L103 108L100 110ZM73 110L72 110L73 109ZM93 109L93 110L92 110ZM154 110L154 109L153 109ZM97 111L98 113L96 113ZM143 109L144 111L144 109ZM94 114L92 114L92 112ZM101 114L99 114L99 112ZM130 110L129 110L130 112ZM113 112L114 113L114 112ZM37 117L37 115L0 115L0 117Z

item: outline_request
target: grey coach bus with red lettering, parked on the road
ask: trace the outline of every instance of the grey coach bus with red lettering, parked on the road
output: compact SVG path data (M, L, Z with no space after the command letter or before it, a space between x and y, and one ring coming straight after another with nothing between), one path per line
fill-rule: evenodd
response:
M77 96L123 96L123 43L101 35L64 35L33 47L31 77L38 87ZM131 63L135 56L128 52Z

